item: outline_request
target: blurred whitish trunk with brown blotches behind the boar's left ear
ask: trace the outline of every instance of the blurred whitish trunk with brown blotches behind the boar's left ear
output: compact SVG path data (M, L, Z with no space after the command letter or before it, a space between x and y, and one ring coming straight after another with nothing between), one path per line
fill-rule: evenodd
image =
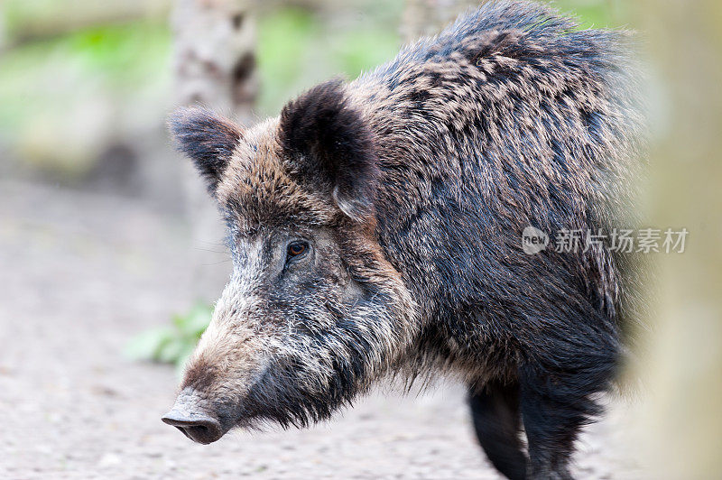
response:
M255 75L255 17L250 0L176 0L174 32L176 99L200 104L247 125L258 82ZM230 271L225 228L205 186L185 162L192 227L192 288L215 299Z

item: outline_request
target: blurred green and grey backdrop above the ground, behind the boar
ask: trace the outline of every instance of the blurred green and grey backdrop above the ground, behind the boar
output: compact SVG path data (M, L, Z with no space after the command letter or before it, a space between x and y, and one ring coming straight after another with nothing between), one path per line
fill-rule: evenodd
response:
M169 176L180 167L164 128L174 106L218 104L248 123L277 115L304 88L336 75L356 78L474 3L440 0L431 2L436 9L409 8L405 16L403 0L193 4L5 0L3 176L132 195L178 211L182 189ZM586 26L626 22L619 0L558 6ZM228 91L227 81L245 91Z

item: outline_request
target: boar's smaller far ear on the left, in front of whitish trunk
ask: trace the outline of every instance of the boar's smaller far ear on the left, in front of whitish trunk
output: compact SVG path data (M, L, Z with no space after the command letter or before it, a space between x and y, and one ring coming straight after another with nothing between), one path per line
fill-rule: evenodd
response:
M168 122L180 151L190 157L215 195L223 171L241 140L241 127L199 107L180 108Z

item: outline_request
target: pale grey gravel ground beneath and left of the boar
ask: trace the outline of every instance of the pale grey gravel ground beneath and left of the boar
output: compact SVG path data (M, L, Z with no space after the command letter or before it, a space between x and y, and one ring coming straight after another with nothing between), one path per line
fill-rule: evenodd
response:
M136 200L0 183L0 477L498 478L454 384L209 446L162 424L173 369L121 351L194 300L187 234ZM628 410L612 402L585 433L579 478L643 477Z

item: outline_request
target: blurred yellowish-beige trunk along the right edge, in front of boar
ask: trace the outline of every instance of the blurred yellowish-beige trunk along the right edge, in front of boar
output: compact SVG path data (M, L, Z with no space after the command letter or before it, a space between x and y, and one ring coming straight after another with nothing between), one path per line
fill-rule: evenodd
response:
M690 232L684 254L660 255L648 440L656 478L722 478L722 3L638 7L662 82L653 109L653 225Z

